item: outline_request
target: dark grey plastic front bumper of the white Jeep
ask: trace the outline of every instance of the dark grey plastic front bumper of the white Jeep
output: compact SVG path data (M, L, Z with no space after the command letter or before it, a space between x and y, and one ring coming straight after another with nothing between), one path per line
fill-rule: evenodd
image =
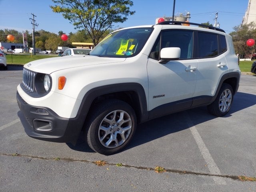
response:
M26 103L17 92L20 121L28 136L51 142L75 144L84 125L85 114L76 118L62 118L49 108Z

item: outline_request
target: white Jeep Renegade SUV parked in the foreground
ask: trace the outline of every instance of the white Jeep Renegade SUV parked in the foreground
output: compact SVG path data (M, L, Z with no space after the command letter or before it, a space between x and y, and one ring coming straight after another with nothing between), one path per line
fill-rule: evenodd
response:
M182 24L124 28L90 55L25 64L17 101L26 133L73 144L84 134L90 148L110 155L130 142L137 123L198 106L227 114L240 79L232 38Z

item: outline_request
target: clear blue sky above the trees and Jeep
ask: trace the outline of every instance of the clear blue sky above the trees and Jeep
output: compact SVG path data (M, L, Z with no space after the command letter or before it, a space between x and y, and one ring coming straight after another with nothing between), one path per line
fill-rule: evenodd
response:
M130 8L136 11L118 27L155 24L156 18L172 16L173 0L133 0L134 6ZM14 29L19 32L29 30L32 32L30 18L31 13L36 15L35 29L45 30L58 34L63 31L76 32L74 26L64 19L61 14L52 12L50 5L52 0L0 0L0 29ZM216 12L220 28L230 33L234 26L241 24L248 6L248 0L176 0L174 14L186 14L190 12L190 22L214 24Z

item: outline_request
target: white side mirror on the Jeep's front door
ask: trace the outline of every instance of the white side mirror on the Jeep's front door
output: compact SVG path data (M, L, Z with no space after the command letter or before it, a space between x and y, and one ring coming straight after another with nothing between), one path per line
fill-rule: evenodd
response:
M168 61L180 59L180 48L179 47L166 47L162 48L160 51L161 64L166 64Z

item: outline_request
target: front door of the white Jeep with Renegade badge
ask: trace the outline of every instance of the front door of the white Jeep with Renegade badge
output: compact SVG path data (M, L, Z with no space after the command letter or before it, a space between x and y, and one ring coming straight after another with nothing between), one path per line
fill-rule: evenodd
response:
M162 48L179 47L180 59L160 64L159 54ZM196 86L198 61L192 59L193 31L163 30L156 40L148 58L149 111L160 115L160 110L169 110L175 106L179 110L192 104ZM174 105L172 105L174 104ZM168 113L168 112L167 112Z

